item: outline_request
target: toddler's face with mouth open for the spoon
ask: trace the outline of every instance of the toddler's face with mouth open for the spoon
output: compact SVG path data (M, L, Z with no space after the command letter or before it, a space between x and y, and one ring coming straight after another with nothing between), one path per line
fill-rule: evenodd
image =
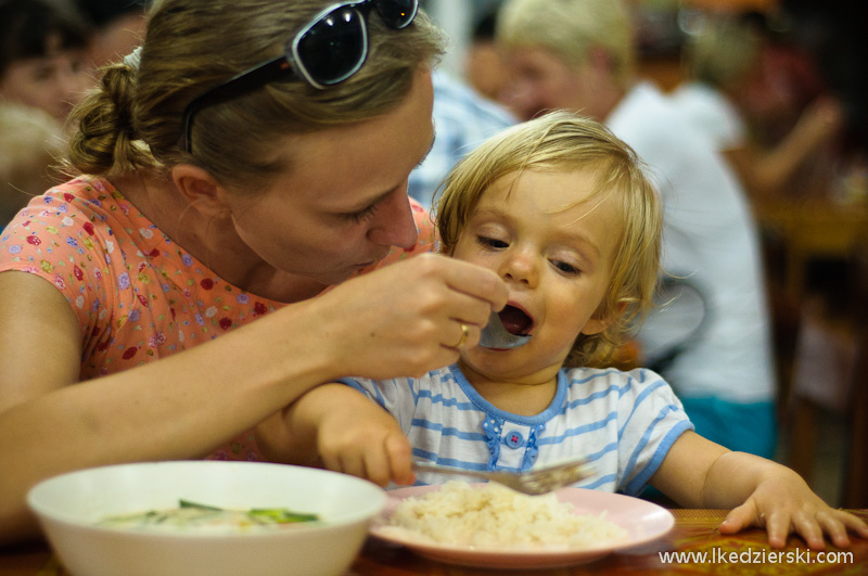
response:
M595 312L623 221L611 194L588 200L593 185L587 170L525 171L496 180L483 194L454 256L500 274L510 291L505 325L533 337L512 350L467 350L463 359L475 369L514 375L557 369L579 333L608 325Z

